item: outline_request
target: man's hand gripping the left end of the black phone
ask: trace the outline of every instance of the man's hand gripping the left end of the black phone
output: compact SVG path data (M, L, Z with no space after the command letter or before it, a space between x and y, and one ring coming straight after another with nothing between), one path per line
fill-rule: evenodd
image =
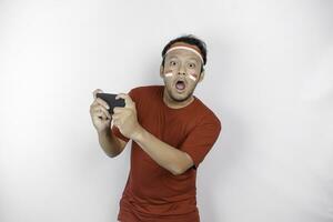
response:
M108 109L108 103L97 98L97 93L103 92L100 89L97 89L92 92L93 94L93 102L90 105L90 115L93 123L93 127L97 129L98 132L102 132L108 130L111 127L112 117L110 115Z

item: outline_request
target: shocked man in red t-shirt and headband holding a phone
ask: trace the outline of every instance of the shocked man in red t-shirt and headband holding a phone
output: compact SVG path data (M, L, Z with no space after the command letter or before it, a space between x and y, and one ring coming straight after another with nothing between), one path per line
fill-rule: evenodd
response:
M221 122L193 95L203 80L205 43L194 36L170 41L162 51L164 85L120 93L124 108L95 98L90 105L104 152L114 158L132 140L131 169L120 200L121 222L199 222L196 169L215 143ZM111 127L111 121L113 125Z

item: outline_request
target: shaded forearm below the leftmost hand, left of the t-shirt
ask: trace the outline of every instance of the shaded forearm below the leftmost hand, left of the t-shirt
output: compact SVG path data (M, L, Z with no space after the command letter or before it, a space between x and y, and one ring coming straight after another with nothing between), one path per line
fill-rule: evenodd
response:
M120 153L120 144L115 135L111 133L111 130L98 132L99 143L103 151L110 157L114 158Z

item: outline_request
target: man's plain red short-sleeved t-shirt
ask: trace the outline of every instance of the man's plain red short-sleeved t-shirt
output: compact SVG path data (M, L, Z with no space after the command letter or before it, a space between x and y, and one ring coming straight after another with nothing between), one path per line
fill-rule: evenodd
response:
M132 141L129 178L120 200L122 222L199 222L196 169L215 143L221 122L195 95L184 108L163 101L164 85L145 85L129 92L135 102L139 123L161 141L186 152L194 165L180 175L160 167ZM118 138L129 141L113 125Z

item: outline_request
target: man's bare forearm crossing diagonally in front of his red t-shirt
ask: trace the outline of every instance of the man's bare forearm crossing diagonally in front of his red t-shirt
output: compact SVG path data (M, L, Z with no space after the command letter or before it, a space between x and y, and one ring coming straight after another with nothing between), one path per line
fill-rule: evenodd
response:
M191 157L168 143L159 140L139 125L132 138L159 165L178 175L193 165Z

